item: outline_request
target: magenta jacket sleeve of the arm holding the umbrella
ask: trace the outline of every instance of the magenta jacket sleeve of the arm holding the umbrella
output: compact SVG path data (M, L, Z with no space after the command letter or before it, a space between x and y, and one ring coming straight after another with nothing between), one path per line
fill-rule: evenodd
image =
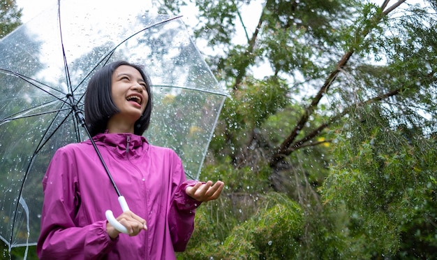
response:
M59 149L43 179L44 203L36 247L40 259L99 259L117 243L106 232L106 220L75 225L80 203L75 171L74 160Z

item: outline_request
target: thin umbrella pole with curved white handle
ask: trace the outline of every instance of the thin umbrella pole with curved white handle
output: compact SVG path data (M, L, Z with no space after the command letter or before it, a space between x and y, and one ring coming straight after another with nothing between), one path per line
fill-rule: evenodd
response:
M103 159L102 154L98 150L96 143L94 142L91 134L89 133L87 124L85 124L84 115L82 114L82 112L80 112L79 108L77 108L77 105L73 99L73 94L67 94L67 98L68 98L68 101L70 101L71 108L73 109L73 112L75 113L77 121L79 121L80 125L82 125L82 127L87 132L87 136L89 137L89 140L91 140L91 144L93 145L94 150L96 150L98 158L100 159L100 161L103 165L103 168L105 168L106 174L110 178L110 181L112 183L112 187L114 187L115 192L117 192L117 195L119 196L118 199L119 199L119 203L121 206L121 210L123 210L123 212L128 211L129 206L128 206L128 203L126 202L126 198L124 198L124 196L121 195L117 185L115 184L114 179L112 178L112 175L108 169L108 166L106 166L106 164L105 164L105 160ZM108 219L108 222L110 222L110 224L112 224L112 226L114 226L115 229L117 229L121 233L128 233L128 230L126 229L126 227L123 226L122 224L120 224L120 222L118 222L117 219L115 219L114 214L112 213L111 210L106 210L105 216L106 216L106 219Z

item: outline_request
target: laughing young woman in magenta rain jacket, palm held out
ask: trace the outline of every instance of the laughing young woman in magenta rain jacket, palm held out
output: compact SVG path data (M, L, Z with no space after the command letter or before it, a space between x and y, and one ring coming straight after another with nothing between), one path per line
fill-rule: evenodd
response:
M186 180L173 150L147 143L150 83L139 66L114 62L101 68L84 100L89 132L130 211L89 140L61 147L43 179L40 259L175 259L194 227L195 208L218 198L223 182ZM128 229L105 219L113 210Z

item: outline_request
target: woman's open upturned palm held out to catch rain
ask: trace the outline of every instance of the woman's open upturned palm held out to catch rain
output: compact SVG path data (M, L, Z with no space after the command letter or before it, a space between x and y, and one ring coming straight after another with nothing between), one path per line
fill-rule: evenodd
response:
M194 186L186 187L185 192L196 201L207 202L218 198L223 187L225 187L225 183L220 180L218 180L214 185L212 185L211 180L208 180L206 183L198 182Z

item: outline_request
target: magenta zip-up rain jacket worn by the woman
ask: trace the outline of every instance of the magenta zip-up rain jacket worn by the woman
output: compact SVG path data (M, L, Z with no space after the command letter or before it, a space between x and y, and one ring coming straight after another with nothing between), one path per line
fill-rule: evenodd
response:
M147 221L138 236L106 233L105 211L121 214L117 193L89 140L61 147L43 179L44 204L37 252L40 259L175 259L185 250L200 202L185 193L182 161L142 136L94 137L132 212Z

